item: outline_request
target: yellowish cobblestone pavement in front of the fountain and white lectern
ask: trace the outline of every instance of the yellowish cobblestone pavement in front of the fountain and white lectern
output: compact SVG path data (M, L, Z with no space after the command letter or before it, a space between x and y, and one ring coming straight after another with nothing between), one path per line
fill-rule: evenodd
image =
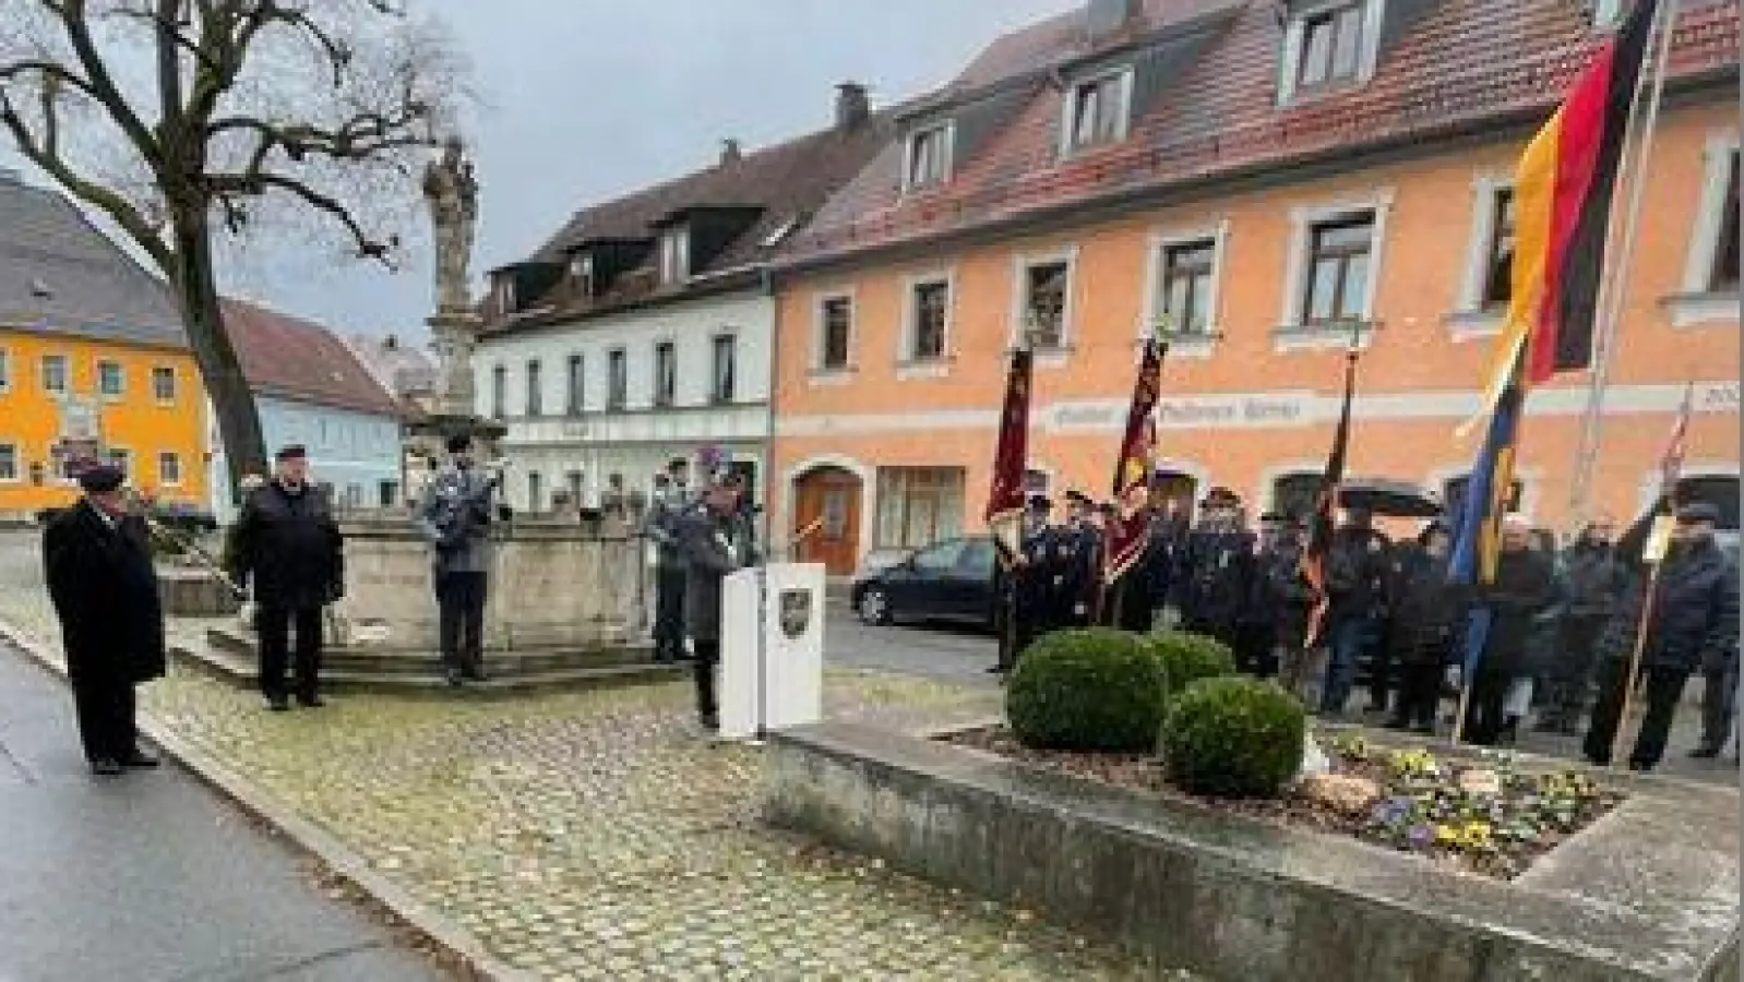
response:
M40 588L7 586L0 617L56 644ZM827 682L830 715L903 727L982 717L996 699L863 672ZM267 713L246 692L174 673L145 687L143 705L548 979L1142 975L1027 912L760 825L759 752L703 743L684 685L358 694Z

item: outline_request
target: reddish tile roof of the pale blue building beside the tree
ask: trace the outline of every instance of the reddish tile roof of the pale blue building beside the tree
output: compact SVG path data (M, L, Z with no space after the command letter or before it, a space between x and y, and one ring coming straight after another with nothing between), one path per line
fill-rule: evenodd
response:
M392 396L345 342L321 324L230 298L223 300L223 324L256 394L399 415Z

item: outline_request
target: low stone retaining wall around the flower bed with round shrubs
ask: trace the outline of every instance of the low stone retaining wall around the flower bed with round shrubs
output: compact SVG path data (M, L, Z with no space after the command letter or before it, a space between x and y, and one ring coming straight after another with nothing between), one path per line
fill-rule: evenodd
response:
M1608 778L1611 780L1611 778ZM1739 797L1632 795L1514 883L851 724L773 734L773 823L1240 982L1718 982Z

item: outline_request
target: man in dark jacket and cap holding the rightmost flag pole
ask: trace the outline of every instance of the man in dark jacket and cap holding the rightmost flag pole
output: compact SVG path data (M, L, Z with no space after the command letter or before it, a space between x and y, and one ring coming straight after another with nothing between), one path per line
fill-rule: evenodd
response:
M1629 569L1631 583L1599 637L1599 699L1592 708L1585 741L1587 760L1599 766L1611 762L1611 745L1622 720L1624 685L1631 682L1629 661L1646 605L1646 588L1653 583L1641 553L1653 516L1662 509L1664 506L1650 509L1617 544L1617 556ZM1652 771L1666 755L1666 736L1690 673L1706 663L1725 665L1737 659L1739 574L1714 542L1718 518L1720 513L1711 504L1685 506L1676 516L1641 647L1646 713L1629 755L1629 767L1634 771Z

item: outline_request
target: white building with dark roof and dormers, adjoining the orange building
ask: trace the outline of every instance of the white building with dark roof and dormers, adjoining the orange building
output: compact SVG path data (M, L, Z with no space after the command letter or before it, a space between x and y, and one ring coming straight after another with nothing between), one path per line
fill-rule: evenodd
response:
M891 133L865 89L835 124L595 204L528 260L492 270L476 410L508 426L508 499L598 508L614 476L652 487L717 448L766 495L774 298L767 263Z

